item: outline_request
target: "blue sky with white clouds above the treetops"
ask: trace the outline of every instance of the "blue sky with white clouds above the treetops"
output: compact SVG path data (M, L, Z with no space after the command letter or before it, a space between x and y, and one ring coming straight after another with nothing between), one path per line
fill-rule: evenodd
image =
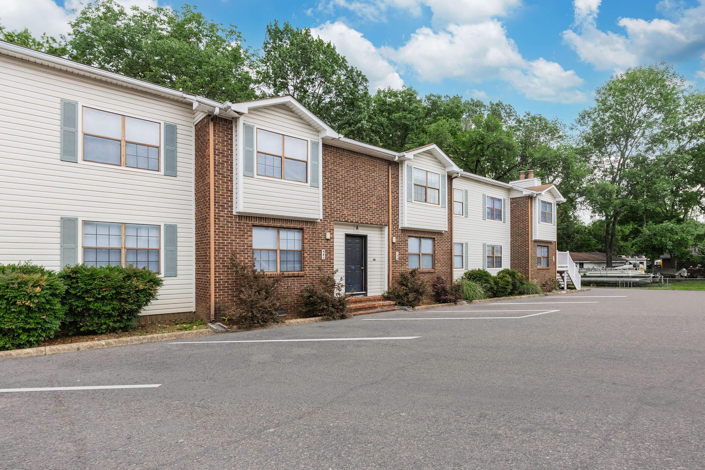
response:
M118 0L140 6L161 0ZM61 2L61 0L59 0ZM193 0L192 0L193 2ZM570 123L591 92L629 66L673 63L705 82L701 0L200 0L257 49L266 24L289 21L331 40L372 87L502 100ZM66 28L76 0L0 0L0 23L36 34ZM37 11L46 14L37 16Z

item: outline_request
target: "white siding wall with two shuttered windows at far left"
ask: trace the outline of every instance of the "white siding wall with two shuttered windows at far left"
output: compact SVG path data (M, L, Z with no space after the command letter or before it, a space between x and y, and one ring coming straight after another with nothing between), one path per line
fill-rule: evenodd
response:
M61 99L176 124L178 176L61 161ZM178 276L164 278L159 298L142 314L194 310L192 106L0 56L0 148L0 263L31 260L59 269L61 217L162 230L164 223L176 224Z

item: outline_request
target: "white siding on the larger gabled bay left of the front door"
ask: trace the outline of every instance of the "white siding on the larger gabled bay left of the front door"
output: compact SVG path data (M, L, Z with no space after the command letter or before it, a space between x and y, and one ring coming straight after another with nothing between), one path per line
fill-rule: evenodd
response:
M277 132L305 140L307 149L310 147L311 140L319 140L318 131L286 106L255 109L241 119L244 123L255 126L255 136L257 136L257 129ZM240 142L238 143L240 144ZM255 139L256 149L257 140ZM257 155L255 152L256 166ZM310 165L307 165L307 172L310 173ZM310 180L310 174L306 180ZM307 182L260 176L257 175L256 170L254 178L241 176L240 181L243 183L243 200L242 204L238 206L240 213L309 220L321 218L321 191L319 187L312 187Z

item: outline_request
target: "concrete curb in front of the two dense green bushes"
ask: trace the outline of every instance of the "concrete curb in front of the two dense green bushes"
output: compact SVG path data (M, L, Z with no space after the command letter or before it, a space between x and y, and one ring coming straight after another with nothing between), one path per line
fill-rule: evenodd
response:
M97 340L72 342L68 345L53 345L42 347L30 347L25 350L0 351L0 357L33 357L46 356L59 352L73 352L85 350L98 350L103 347L141 345L145 342L180 340L181 338L198 338L200 336L213 335L211 330L191 330L173 331L172 333L159 333L157 335L128 336L127 338L113 338L111 340Z

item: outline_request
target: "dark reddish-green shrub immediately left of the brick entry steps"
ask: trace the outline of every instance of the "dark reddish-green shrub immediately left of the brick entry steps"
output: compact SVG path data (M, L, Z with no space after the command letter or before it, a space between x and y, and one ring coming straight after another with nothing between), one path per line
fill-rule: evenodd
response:
M318 268L317 282L304 287L301 297L304 301L301 312L305 316L322 316L324 320L341 320L350 318L345 309L348 308L348 298L345 297L345 285L336 281L338 270L333 275L326 275Z

